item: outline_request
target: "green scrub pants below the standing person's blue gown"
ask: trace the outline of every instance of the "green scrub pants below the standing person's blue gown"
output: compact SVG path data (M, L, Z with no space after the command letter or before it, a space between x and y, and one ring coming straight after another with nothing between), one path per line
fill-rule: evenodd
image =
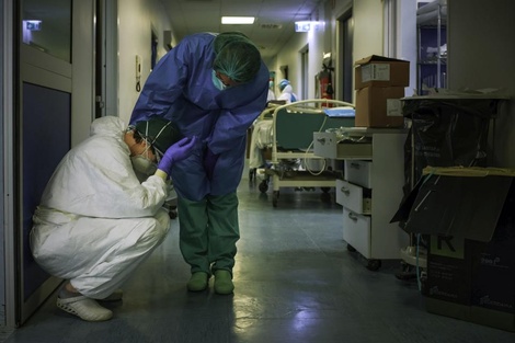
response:
M201 202L178 197L180 249L191 272L211 275L217 270L232 273L236 242L240 239L238 196L208 195Z

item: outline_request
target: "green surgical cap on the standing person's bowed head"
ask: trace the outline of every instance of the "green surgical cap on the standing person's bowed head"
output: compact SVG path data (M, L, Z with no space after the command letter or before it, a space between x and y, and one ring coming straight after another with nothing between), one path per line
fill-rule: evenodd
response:
M213 68L236 82L252 80L261 68L260 50L243 34L219 34L215 38L215 52Z

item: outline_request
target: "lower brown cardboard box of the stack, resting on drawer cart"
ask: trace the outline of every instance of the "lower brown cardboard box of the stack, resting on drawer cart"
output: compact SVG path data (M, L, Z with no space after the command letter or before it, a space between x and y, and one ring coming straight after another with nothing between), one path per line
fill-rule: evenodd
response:
M402 113L388 115L388 100L404 96L403 87L366 87L356 91L355 125L363 127L403 127ZM390 113L391 114L391 113Z

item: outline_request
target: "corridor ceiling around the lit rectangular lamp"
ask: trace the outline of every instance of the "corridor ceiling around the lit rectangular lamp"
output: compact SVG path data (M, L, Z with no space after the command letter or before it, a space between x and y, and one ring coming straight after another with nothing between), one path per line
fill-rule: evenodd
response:
M260 48L264 59L275 56L295 34L295 21L309 20L322 0L160 0L181 41L197 32L240 31ZM252 25L222 25L222 15L255 16Z

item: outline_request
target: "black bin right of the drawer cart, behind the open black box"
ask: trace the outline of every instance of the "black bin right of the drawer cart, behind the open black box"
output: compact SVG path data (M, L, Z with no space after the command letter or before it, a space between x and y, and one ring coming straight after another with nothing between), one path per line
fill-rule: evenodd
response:
M495 106L491 99L404 98L402 113L411 119L405 145L410 184L419 181L427 165L487 167L489 126Z

